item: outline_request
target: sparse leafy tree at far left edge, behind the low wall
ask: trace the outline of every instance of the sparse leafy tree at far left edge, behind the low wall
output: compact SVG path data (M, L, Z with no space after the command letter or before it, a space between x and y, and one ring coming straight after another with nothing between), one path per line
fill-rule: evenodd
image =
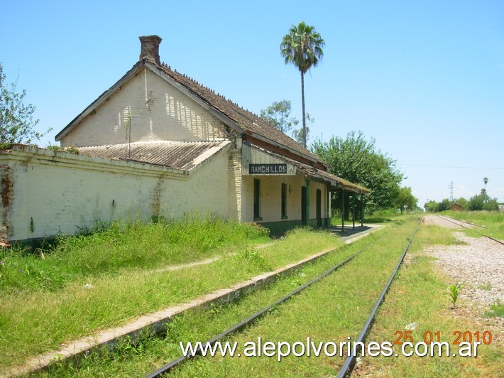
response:
M35 131L38 119L33 119L35 107L23 104L26 90L16 92L17 81L7 86L6 75L0 63L0 148L9 148L14 143L31 144L34 139L40 140L51 129L43 134Z

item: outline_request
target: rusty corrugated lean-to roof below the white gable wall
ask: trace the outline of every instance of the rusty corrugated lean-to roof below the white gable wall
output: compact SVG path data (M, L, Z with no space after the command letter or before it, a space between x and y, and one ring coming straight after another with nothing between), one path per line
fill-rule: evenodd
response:
M80 154L95 158L138 161L190 171L229 144L231 141L139 141L78 149Z

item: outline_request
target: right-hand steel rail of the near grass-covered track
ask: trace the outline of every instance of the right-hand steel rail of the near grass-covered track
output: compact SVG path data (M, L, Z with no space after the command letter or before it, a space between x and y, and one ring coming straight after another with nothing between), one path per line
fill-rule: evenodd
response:
M381 303L383 302L383 298L385 298L385 294L388 291L388 288L390 288L390 284L392 284L392 281L395 277L395 274L398 272L400 265L402 264L402 260L404 260L404 257L406 255L407 249L410 248L410 244L415 237L415 234L417 233L418 227L420 227L420 224L422 223L423 217L420 218L420 221L418 221L417 227L415 227L415 231L413 231L413 234L410 237L410 240L407 242L407 245L404 249L404 252L402 252L402 256L399 259L399 262L397 266L395 266L394 271L390 275L390 278L387 281L387 284L385 284L385 288L383 288L383 291L381 292L380 296L378 297L378 301L376 301L375 306L373 307L373 310L371 311L371 314L369 315L368 320L366 321L366 324L362 328L361 334L358 335L358 338L355 342L360 342L357 344L357 347L355 348L355 352L362 351L362 345L364 340L366 340L366 334L368 331L371 329L371 325L373 324L373 321L375 319L376 312L378 311L378 308L380 307ZM341 370L338 373L338 378L343 378L343 377L349 377L351 372L354 370L355 364L356 364L356 359L357 359L357 353L354 354L354 348L351 348L349 350L349 357L346 357L346 360L343 364L343 367L341 367Z

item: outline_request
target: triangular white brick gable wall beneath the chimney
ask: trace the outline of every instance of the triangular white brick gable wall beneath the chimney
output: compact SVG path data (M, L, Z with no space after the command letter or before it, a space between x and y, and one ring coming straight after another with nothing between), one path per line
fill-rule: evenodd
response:
M180 90L144 68L90 114L62 146L102 146L129 141L213 141L224 124Z

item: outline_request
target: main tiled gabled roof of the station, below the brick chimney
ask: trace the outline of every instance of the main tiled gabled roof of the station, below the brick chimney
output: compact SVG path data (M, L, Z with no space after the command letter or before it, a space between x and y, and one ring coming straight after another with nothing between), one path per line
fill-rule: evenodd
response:
M212 114L221 119L224 124L230 126L231 129L236 130L240 134L255 136L256 138L263 139L270 144L285 148L286 150L295 153L298 156L302 156L309 161L322 163L324 166L327 166L327 164L324 163L318 156L308 151L306 148L294 141L294 139L278 130L275 126L269 124L268 121L258 117L258 115L239 107L238 104L226 99L224 96L216 94L210 88L204 87L187 75L182 75L180 72L177 72L177 70L172 70L168 65L159 65L146 58L139 60L138 63L131 68L131 70L126 72L126 75L124 75L121 80L116 82L116 84L110 87L109 90L106 90L98 99L90 104L89 107L84 109L84 112L79 114L70 122L70 124L65 126L65 128L55 136L55 140L60 141L65 135L70 133L72 129L75 129L75 127L80 124L80 121L91 114L94 109L97 109L97 107L105 102L111 95L114 95L114 92L119 90L121 85L124 85L125 82L127 82L143 67L146 67L158 74L160 77L163 77L163 79L171 85L175 85L175 87L182 90L182 92L186 95L190 96L199 104L202 104L205 109L209 110L209 112L212 112Z

